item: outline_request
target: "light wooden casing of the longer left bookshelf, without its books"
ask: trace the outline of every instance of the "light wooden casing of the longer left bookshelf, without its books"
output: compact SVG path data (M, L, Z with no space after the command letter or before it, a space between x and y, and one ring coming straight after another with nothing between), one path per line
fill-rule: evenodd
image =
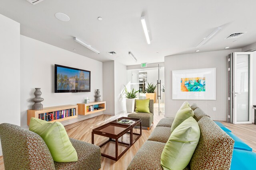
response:
M55 112L55 111L62 111L62 110L66 110L66 109L75 109L74 111L74 116L68 116L68 117L64 117L64 118L59 118L59 119L55 119L52 120L50 122L54 122L54 121L64 121L64 120L68 120L68 119L73 119L75 117L78 117L78 106L77 105L63 105L63 106L53 106L53 107L44 107L42 110L27 110L27 124L29 126L30 123L30 119L31 117L36 117L38 118L38 115L41 113L49 113L49 112Z

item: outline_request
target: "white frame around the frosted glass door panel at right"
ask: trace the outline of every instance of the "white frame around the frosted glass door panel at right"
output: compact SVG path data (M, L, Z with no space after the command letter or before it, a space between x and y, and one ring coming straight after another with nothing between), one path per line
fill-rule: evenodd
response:
M233 62L233 91L232 91L232 96L234 100L234 107L233 107L233 123L234 124L250 124L252 123L252 52L236 52L234 54L234 62ZM237 109L236 109L236 104L237 104L237 98L236 92L235 92L235 85L236 85L236 61L237 61L237 55L249 55L249 121L237 121Z

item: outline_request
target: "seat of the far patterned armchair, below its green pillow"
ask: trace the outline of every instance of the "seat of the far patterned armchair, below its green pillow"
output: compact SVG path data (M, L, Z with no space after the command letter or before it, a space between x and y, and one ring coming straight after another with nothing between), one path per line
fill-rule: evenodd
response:
M143 127L150 127L153 122L154 115L153 113L140 113L140 112L133 112L128 114L128 117L141 119L141 125Z

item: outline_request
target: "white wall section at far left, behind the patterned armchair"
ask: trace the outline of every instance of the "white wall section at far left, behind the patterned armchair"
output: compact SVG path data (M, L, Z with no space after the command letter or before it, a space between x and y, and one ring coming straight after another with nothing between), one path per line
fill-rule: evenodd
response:
M20 23L1 14L0 23L0 124L20 125Z

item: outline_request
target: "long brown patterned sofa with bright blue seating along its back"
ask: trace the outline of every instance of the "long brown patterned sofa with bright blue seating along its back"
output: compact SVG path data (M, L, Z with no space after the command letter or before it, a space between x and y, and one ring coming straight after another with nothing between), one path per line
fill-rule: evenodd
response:
M241 150L241 145L238 145L228 133L222 130L224 127L220 128L221 123L212 121L196 104L190 107L194 110L194 119L200 127L200 139L190 163L184 170L256 169L253 167L254 163L251 162L256 161L254 152ZM171 135L170 129L173 121L173 118L163 118L159 121L148 140L130 162L127 170L163 170L160 165L161 154ZM250 147L242 145L242 148L249 149Z

